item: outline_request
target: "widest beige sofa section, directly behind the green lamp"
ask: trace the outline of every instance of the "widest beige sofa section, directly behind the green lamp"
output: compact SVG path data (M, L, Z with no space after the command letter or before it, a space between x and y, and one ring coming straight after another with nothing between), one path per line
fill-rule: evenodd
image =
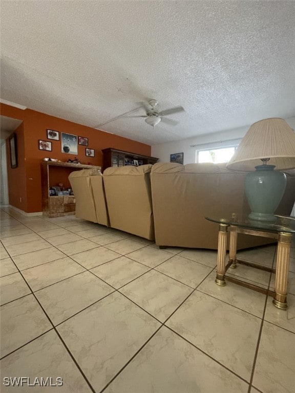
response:
M225 165L153 165L151 186L158 246L217 249L218 224L205 220L205 216L249 212L244 196L246 173L228 170ZM288 172L287 189L277 210L281 214L290 214L295 199L295 171ZM271 241L263 237L238 236L238 249L267 243Z

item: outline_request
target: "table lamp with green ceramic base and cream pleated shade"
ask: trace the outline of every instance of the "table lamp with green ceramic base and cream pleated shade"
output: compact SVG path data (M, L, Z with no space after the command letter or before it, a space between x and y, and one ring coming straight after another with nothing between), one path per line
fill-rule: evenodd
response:
M280 170L295 168L292 128L280 118L252 124L226 167L250 171L245 179L245 193L251 209L249 219L275 222L274 213L287 182L285 173Z

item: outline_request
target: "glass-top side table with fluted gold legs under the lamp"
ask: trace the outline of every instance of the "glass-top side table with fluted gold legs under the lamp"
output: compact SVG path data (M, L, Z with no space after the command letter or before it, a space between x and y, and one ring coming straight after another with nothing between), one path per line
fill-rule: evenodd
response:
M249 220L248 216L231 214L228 217L205 217L206 220L219 224L218 253L217 253L217 274L215 282L217 285L225 285L225 273L227 269L236 268L237 261L254 268L276 273L275 292L265 288L248 284L233 277L226 277L228 281L233 281L239 285L254 289L256 291L272 295L272 303L279 309L286 310L287 305L287 279L289 268L289 255L292 233L295 233L295 217L276 215L276 221L263 222ZM229 237L229 260L226 264L226 240ZM277 269L269 269L256 264L237 260L237 238L238 233L246 233L254 236L263 236L276 239L278 241Z

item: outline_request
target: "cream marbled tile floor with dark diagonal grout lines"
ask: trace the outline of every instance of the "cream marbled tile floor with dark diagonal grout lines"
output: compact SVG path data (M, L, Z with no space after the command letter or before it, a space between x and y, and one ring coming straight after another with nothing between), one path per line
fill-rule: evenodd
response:
M295 244L289 309L215 282L217 252L153 242L76 219L1 211L2 378L62 387L1 391L293 393ZM275 264L276 246L242 251ZM230 274L273 287L270 273ZM33 390L32 390L33 389Z

